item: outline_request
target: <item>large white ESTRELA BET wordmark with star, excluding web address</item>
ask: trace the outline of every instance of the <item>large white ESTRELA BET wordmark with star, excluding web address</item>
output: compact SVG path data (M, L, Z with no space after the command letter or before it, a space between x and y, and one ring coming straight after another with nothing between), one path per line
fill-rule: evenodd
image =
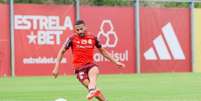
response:
M27 42L31 45L59 45L60 36L66 29L73 30L70 16L63 24L59 16L15 15L15 30L28 30Z

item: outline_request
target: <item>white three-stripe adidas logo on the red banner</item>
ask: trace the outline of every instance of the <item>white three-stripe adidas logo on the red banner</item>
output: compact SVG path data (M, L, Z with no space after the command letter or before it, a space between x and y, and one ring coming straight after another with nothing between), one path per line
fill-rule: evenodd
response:
M171 23L166 24L162 28L162 32L162 35L159 35L153 40L154 47L149 48L144 53L145 59L158 60L159 58L160 60L185 60L184 52Z

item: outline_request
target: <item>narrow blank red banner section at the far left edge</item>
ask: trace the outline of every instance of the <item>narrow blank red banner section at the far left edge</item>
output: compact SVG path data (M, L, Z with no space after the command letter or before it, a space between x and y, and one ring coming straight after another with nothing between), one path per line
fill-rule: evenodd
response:
M0 76L10 75L9 6L0 4Z

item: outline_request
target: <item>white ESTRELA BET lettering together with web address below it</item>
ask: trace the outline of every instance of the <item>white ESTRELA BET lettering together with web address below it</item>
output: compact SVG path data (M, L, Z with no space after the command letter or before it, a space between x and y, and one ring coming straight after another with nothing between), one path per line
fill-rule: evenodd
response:
M15 15L14 27L15 31L24 31L28 45L33 47L60 45L64 31L73 30L70 16L65 16L63 20L60 16ZM55 61L55 58L47 56L26 56L22 59L23 64L54 64ZM67 63L67 58L63 58L61 63Z

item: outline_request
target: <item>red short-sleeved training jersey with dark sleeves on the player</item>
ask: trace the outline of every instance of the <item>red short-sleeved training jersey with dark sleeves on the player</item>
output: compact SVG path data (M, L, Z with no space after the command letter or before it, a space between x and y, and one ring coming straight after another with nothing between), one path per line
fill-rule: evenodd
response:
M65 49L71 47L73 53L73 67L75 69L81 69L86 64L94 62L94 48L101 48L101 44L97 37L89 32L84 37L80 37L77 34L67 38L65 42Z

